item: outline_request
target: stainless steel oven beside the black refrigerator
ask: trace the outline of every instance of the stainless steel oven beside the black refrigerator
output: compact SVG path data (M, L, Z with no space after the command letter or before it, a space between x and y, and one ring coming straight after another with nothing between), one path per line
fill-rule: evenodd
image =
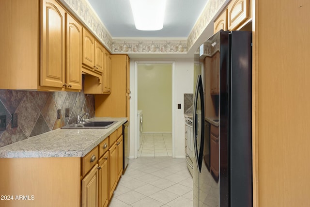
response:
M185 159L187 168L193 176L194 140L193 140L193 121L192 117L185 118Z

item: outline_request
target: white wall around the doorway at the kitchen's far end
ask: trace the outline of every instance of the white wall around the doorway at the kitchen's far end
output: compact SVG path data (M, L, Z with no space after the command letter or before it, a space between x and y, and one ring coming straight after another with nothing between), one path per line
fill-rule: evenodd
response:
M135 61L167 61L167 60L154 60L154 59L130 59L130 158L135 157L135 136L137 132L137 109L135 109L136 94L135 94L135 81L137 74L135 74ZM175 158L185 157L185 119L184 119L184 94L191 94L193 92L193 75L194 75L194 62L193 59L173 59L169 60L175 63L174 88L175 99L174 101L174 121L172 126L175 134L174 142L174 156ZM177 108L177 104L181 104L181 109ZM173 114L173 111L172 111ZM173 143L173 142L172 142Z

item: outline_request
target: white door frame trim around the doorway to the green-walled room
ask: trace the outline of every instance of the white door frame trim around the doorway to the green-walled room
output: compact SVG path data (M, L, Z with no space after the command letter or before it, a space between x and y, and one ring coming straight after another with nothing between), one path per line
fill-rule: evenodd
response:
M138 158L138 64L171 64L171 90L172 90L172 158L175 158L175 62L174 61L135 61L134 62L134 158Z

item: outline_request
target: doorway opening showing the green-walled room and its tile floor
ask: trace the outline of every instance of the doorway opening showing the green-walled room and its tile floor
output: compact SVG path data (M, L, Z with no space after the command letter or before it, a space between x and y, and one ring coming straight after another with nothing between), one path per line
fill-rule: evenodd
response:
M174 157L174 62L135 62L135 74L135 114L143 114L135 158Z

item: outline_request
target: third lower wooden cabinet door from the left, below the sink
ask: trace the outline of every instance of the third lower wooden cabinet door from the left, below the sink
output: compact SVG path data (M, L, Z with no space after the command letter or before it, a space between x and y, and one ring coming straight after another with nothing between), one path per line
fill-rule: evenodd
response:
M117 149L116 143L109 148L109 199L117 184Z

